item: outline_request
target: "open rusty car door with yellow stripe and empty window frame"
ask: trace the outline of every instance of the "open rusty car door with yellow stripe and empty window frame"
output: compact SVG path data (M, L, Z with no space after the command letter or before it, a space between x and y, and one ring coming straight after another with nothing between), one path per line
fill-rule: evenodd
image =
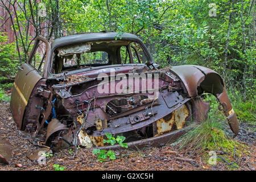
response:
M18 69L11 93L10 109L19 129L22 127L24 110L34 86L47 75L47 58L50 49L46 39L36 38L27 63L20 65Z

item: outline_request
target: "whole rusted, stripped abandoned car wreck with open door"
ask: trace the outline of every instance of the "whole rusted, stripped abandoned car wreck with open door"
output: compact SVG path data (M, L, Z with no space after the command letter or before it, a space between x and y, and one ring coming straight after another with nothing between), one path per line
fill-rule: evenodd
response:
M203 93L217 97L238 134L224 82L211 69L159 69L142 41L127 33L77 34L52 44L38 37L15 78L11 111L20 130L37 134L47 127L53 151L118 148L104 143L105 133L123 135L129 147L158 146L180 137L189 123L205 121Z

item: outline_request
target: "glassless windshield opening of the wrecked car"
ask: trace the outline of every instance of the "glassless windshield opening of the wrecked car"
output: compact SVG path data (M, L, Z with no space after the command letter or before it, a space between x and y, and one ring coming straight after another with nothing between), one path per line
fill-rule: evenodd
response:
M102 65L150 62L141 44L131 40L76 43L57 47L53 52L54 74Z

